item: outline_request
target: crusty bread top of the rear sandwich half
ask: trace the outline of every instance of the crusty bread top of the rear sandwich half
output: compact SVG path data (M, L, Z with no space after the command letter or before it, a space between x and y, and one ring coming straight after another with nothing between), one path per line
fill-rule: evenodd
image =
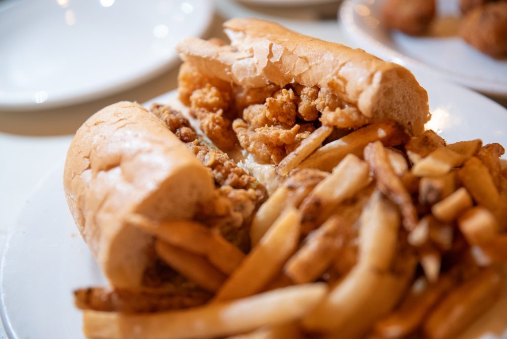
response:
M231 45L187 38L178 52L199 72L238 86L327 88L369 122L393 118L414 134L424 131L428 95L405 67L269 21L232 19L224 27ZM352 121L350 127L356 126Z

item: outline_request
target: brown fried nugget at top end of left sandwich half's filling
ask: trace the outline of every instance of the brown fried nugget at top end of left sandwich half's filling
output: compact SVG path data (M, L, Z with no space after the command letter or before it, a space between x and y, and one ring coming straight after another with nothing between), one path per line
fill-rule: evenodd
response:
M164 122L167 128L184 143L189 143L197 139L197 133L180 112L173 110L169 106L160 104L153 104L150 108L150 112Z

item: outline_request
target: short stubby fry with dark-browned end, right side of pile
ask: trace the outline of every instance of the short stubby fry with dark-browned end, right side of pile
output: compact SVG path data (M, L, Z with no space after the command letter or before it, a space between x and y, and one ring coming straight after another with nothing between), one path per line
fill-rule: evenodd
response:
M456 190L456 172L440 177L425 177L419 181L419 203L433 205Z

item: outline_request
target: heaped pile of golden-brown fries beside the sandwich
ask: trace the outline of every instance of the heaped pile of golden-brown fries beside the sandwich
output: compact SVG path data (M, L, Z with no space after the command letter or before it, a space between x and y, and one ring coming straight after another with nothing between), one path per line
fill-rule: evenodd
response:
M129 216L214 297L157 314L87 310L85 334L440 339L493 305L507 262L502 146L410 138L391 120L322 147L331 130L313 133L278 166L289 179L253 218L248 254L195 222Z

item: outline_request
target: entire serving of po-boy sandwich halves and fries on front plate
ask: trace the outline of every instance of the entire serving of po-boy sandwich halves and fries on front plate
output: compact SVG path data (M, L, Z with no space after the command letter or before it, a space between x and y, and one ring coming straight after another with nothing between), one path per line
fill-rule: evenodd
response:
M182 110L112 105L69 149L69 207L112 285L75 292L85 334L444 338L491 307L503 148L424 131L402 66L225 27L231 45L178 46Z

